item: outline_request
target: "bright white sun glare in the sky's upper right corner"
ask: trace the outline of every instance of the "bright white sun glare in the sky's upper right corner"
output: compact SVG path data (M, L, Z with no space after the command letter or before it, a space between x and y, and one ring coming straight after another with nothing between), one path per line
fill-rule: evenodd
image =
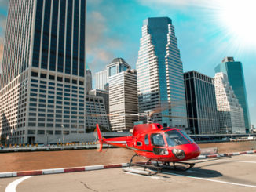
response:
M256 48L256 1L220 1L219 20L227 35L243 48Z

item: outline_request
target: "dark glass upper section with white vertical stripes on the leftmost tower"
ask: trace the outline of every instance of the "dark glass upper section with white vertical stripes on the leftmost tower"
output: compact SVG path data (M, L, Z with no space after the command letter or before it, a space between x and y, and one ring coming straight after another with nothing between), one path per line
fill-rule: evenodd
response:
M32 67L84 77L86 0L36 3Z

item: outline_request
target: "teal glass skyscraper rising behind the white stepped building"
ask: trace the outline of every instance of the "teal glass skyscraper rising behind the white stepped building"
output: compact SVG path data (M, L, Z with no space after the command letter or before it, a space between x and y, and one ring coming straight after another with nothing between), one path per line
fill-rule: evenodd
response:
M215 67L215 73L223 72L227 74L229 84L232 86L235 95L243 108L243 118L246 132L251 129L250 114L247 103L247 89L243 77L243 66L240 61L235 61L233 57L225 57L222 63Z

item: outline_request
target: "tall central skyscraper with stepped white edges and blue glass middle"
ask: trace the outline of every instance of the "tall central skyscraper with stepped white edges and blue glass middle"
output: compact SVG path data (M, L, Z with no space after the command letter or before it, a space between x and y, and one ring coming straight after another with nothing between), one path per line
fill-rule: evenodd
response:
M137 86L139 112L163 107L153 121L164 126L187 127L183 66L174 25L168 17L143 22Z

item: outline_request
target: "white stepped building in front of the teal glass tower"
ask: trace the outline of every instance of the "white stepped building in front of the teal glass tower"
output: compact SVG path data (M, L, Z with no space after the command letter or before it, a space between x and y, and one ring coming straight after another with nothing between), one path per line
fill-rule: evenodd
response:
M243 108L229 85L226 74L220 72L214 76L215 95L221 133L245 133Z

